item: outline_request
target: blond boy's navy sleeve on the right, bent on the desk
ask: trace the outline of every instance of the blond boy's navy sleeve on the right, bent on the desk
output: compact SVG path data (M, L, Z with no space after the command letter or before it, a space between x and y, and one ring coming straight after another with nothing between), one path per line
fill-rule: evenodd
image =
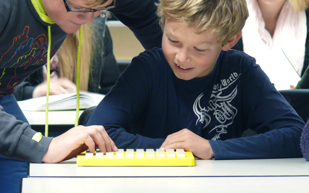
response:
M243 115L255 136L210 141L215 159L268 159L301 157L303 120L256 66L243 71Z

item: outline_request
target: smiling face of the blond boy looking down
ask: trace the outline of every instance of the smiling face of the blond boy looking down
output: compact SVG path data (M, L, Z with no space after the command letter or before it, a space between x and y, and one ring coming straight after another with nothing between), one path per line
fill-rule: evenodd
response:
M217 34L210 33L211 29L201 34L195 31L195 27L182 25L182 22L171 18L165 19L162 50L176 77L183 80L208 75L222 50Z

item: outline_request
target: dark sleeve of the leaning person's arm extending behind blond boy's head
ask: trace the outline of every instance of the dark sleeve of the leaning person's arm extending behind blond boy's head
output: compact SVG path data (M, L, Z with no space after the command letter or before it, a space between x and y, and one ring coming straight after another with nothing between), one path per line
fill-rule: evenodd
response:
M161 48L162 30L156 15L158 0L119 0L110 12L133 31L146 50Z

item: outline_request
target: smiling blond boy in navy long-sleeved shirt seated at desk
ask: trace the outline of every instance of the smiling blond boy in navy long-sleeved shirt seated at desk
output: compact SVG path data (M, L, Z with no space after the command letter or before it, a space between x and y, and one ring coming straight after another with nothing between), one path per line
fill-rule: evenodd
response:
M301 157L303 120L255 59L230 50L245 0L161 0L162 49L141 53L96 107L118 148L182 148L202 159ZM242 137L251 128L259 135Z

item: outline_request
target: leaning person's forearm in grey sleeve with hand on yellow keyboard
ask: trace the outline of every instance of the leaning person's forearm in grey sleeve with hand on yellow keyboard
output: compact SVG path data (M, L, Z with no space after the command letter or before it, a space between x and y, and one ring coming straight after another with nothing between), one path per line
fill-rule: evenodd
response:
M0 106L0 155L34 163L57 163L87 149L117 151L102 126L77 126L55 138L45 137L16 120Z

